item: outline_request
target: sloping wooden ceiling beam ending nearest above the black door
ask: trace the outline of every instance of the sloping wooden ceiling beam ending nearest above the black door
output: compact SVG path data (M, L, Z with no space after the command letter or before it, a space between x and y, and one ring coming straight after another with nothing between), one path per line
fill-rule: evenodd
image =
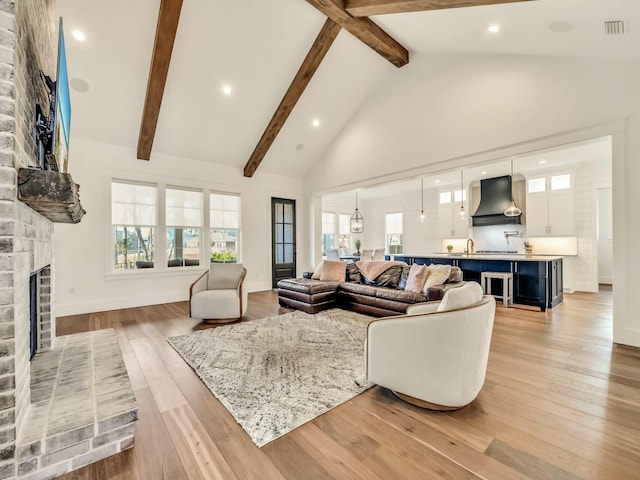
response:
M322 62L322 59L329 51L329 47L331 47L331 44L338 36L338 33L340 33L340 25L327 18L315 42L313 42L309 53L307 53L302 65L298 69L296 76L293 78L291 85L289 85L287 92L284 94L280 105L278 105L276 112L273 114L273 117L271 117L269 125L267 125L262 137L260 137L258 145L256 145L251 157L244 166L245 177L252 177L256 172L260 162L262 162L262 159L269 151L280 129L287 121L293 107L298 103L298 100L302 96L305 88L307 88L307 85L320 66L320 62Z

